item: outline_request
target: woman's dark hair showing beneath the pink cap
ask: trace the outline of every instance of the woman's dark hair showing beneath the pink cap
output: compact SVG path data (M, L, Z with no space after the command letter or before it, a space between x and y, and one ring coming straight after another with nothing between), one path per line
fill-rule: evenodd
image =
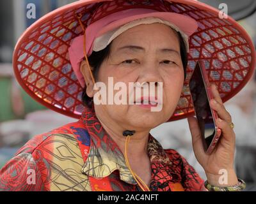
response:
M179 32L177 32L177 34L178 34L179 41L180 41L180 57L181 57L183 68L184 68L184 80L185 80L186 79L186 68L188 65L188 54L187 54L187 50L186 50L186 44L185 44L181 34ZM97 76L98 76L99 69L100 69L102 62L105 59L108 59L108 57L109 57L110 47L111 47L111 43L106 48L104 48L104 50L100 50L99 52L93 51L92 54L90 55L90 57L88 57L90 66L92 66L92 68L93 68L93 77L95 78L96 81L97 81ZM83 101L83 105L86 105L89 108L92 108L93 98L90 98L89 96L87 96L86 87L84 87L84 89L83 89L82 101Z

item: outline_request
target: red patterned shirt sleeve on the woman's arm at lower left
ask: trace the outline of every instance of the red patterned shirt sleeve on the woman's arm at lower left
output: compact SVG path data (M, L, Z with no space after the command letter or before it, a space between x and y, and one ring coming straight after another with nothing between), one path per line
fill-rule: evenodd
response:
M0 191L45 191L33 155L22 152L0 170Z

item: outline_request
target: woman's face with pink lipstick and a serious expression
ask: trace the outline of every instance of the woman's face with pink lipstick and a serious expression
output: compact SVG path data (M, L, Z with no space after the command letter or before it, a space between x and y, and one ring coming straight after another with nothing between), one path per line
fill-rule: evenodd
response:
M161 111L152 112L149 107L134 104L116 105L114 101L113 105L95 105L99 119L104 117L126 129L136 130L155 128L166 122L177 106L184 82L177 33L167 25L158 23L142 24L128 29L113 40L109 57L102 62L99 69L97 82L106 84L107 99L109 77L113 77L114 85L116 82L124 82L126 87L129 87L129 82L162 82L163 98L159 98L159 101L162 101L163 106ZM156 96L159 91L157 86L159 84L156 83ZM114 96L116 92L120 92L120 89L113 92ZM131 92L127 90L127 101L129 94ZM150 93L147 96L150 96Z

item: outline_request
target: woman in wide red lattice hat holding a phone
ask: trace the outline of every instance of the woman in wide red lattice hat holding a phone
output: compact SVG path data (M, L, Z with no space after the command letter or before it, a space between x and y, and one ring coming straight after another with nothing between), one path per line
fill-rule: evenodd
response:
M200 18L195 17L198 13L191 14L189 8L201 8L205 17L216 16L217 11L196 1L184 2L77 1L31 25L13 57L20 84L40 103L65 115L79 115L79 120L29 140L0 171L1 190L244 189L244 181L237 179L234 170L236 134L223 105L227 98L220 94L223 82L210 80L214 97L210 105L218 113L216 126L222 133L211 154L205 153L193 114L177 114L181 98L185 99L184 84L191 77L191 63L222 59L211 49L200 56L193 50L205 50L205 45L209 48L214 41L215 50L218 43L222 43L220 50L230 49L226 35L217 34L211 23L202 27ZM181 8L187 15L178 11ZM248 41L244 30L230 17L228 20ZM216 20L223 27L227 22ZM200 34L205 30L207 33ZM210 37L211 32L217 36ZM212 44L204 39L205 34ZM236 44L233 38L228 40ZM251 41L246 47L252 54ZM228 51L225 57L232 58ZM248 61L248 69L253 69L253 62ZM208 69L214 66L212 63ZM228 68L223 65L218 69ZM206 181L177 151L163 149L150 135L151 129L182 117L188 117L193 150ZM225 182L221 182L220 172L224 172Z

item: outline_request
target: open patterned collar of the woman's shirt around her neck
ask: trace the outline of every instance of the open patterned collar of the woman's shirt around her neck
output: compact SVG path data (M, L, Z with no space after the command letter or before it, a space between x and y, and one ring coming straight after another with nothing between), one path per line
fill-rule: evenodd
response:
M82 172L88 176L101 179L108 177L113 171L118 170L120 180L128 184L137 184L125 164L122 151L111 136L102 128L94 110L83 112L81 120L92 141L88 159L82 168ZM152 135L149 135L148 138L148 156L150 157L151 164L161 163L164 166L171 164L163 147Z

